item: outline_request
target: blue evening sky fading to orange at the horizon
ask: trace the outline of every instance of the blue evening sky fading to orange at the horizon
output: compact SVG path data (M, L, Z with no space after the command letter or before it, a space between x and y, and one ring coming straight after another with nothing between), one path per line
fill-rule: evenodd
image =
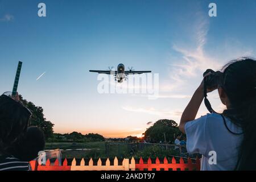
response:
M214 1L216 17L211 2L0 0L0 92L12 90L23 61L18 92L43 107L55 133L140 137L158 119L179 123L206 69L256 57L256 1ZM158 98L99 93L89 69L119 63L158 73ZM209 100L225 109L217 91ZM202 104L197 117L206 113Z

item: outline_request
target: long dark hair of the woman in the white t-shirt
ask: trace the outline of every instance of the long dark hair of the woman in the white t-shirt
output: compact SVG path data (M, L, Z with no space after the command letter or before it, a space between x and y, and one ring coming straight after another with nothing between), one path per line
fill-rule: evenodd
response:
M230 109L224 115L242 128L236 170L256 170L256 60L242 57L222 68Z

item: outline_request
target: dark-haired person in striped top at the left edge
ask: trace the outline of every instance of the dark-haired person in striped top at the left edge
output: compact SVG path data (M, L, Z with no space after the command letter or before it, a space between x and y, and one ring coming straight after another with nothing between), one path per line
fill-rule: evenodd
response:
M22 162L8 151L27 131L31 112L19 102L19 95L0 96L0 171L28 171L28 162Z

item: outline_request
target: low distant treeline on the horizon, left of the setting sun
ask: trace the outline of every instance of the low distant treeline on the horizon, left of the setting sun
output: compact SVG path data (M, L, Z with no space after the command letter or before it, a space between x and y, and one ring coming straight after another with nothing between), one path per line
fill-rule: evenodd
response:
M67 134L54 133L48 142L101 142L105 138L100 134L89 133L83 135L76 131Z

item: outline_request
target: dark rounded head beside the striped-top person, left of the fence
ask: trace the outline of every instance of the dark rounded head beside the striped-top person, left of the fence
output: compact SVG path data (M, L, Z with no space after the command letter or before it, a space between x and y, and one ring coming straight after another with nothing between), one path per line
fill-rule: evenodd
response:
M30 162L30 160L38 157L39 151L44 150L45 144L42 129L37 126L30 126L26 134L9 149L9 153L15 156L15 158Z

